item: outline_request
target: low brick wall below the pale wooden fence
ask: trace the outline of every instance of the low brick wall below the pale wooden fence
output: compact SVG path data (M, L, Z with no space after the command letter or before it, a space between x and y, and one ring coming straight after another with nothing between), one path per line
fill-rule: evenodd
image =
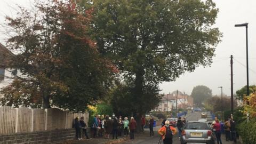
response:
M42 132L14 133L0 135L0 144L22 143L22 144L41 144L41 143L62 143L66 140L75 138L74 129L52 130Z

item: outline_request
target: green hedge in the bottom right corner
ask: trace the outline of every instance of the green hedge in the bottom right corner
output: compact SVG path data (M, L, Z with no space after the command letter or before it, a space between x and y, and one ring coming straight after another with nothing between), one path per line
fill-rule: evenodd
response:
M238 132L241 136L243 143L255 144L256 143L256 118L250 119L249 123L246 121L238 125Z

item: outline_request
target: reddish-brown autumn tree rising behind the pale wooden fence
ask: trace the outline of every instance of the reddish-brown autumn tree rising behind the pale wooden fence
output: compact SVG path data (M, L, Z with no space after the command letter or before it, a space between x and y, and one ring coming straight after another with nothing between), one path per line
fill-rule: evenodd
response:
M33 10L20 7L16 18L6 17L13 35L7 46L18 52L12 66L21 75L1 91L2 105L85 110L106 93L116 70L87 34L91 10L51 0Z

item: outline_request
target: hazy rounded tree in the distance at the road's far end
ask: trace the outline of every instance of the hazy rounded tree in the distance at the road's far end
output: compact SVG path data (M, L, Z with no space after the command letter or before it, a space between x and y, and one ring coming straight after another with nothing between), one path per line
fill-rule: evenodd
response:
M212 90L205 85L197 85L193 88L191 97L197 106L202 106L202 102L212 97Z

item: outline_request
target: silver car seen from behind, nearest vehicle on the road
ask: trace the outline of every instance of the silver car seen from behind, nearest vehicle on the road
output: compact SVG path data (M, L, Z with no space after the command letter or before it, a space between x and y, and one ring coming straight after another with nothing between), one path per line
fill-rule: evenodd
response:
M190 121L186 123L180 138L181 144L207 143L214 144L212 128L207 122Z

